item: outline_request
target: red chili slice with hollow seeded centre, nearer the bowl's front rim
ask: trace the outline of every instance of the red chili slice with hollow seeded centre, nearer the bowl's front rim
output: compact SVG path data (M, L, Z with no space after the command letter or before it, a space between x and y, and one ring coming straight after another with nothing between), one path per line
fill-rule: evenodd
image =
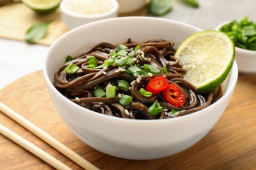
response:
M175 107L182 107L185 103L184 94L179 86L175 84L168 84L167 88L162 91L162 94L168 103Z

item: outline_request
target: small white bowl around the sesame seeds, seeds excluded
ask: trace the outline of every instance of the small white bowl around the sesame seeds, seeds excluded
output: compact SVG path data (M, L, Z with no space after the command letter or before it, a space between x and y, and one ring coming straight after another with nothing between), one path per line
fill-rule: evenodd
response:
M74 11L74 9L70 10L66 6L69 1L72 2L72 0L62 0L62 2L60 3L62 22L66 25L66 27L68 27L68 29L74 29L75 27L79 27L80 25L87 24L89 22L94 22L107 18L115 18L118 16L119 5L116 0L108 0L107 2L112 4L112 9L98 14L84 14ZM77 1L77 3L81 2L82 1ZM86 1L84 2L86 3ZM72 3L74 3L74 1ZM90 3L96 3L96 1L91 1Z

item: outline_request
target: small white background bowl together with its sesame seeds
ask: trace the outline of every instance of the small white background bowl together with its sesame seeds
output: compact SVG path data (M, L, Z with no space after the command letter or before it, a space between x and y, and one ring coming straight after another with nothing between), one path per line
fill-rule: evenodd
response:
M116 0L62 0L60 11L62 22L68 29L80 25L118 16L119 5Z

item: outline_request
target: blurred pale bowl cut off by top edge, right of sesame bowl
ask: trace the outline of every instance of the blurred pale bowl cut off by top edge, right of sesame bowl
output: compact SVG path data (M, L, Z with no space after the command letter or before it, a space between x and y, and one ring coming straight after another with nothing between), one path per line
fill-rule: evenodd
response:
M134 12L142 9L146 5L146 0L117 0L120 14Z

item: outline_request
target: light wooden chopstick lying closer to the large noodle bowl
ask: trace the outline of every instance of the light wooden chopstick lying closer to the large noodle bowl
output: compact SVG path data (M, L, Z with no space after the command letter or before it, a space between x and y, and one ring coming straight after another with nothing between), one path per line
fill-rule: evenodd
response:
M59 152L61 152L62 154L70 158L70 160L74 161L84 169L98 169L95 165L83 159L81 156L76 154L73 150L70 150L70 148L68 148L64 144L60 143L59 141L51 137L51 135L49 135L39 127L32 124L32 122L20 116L20 114L10 109L9 107L7 107L7 105L3 104L1 101L0 101L0 110L1 112L5 113L7 116L12 118L12 120L15 120L18 124L22 125L26 129L31 131L33 134L37 135L37 137L41 138L43 141L45 141L46 143L56 148L56 150L58 150Z

